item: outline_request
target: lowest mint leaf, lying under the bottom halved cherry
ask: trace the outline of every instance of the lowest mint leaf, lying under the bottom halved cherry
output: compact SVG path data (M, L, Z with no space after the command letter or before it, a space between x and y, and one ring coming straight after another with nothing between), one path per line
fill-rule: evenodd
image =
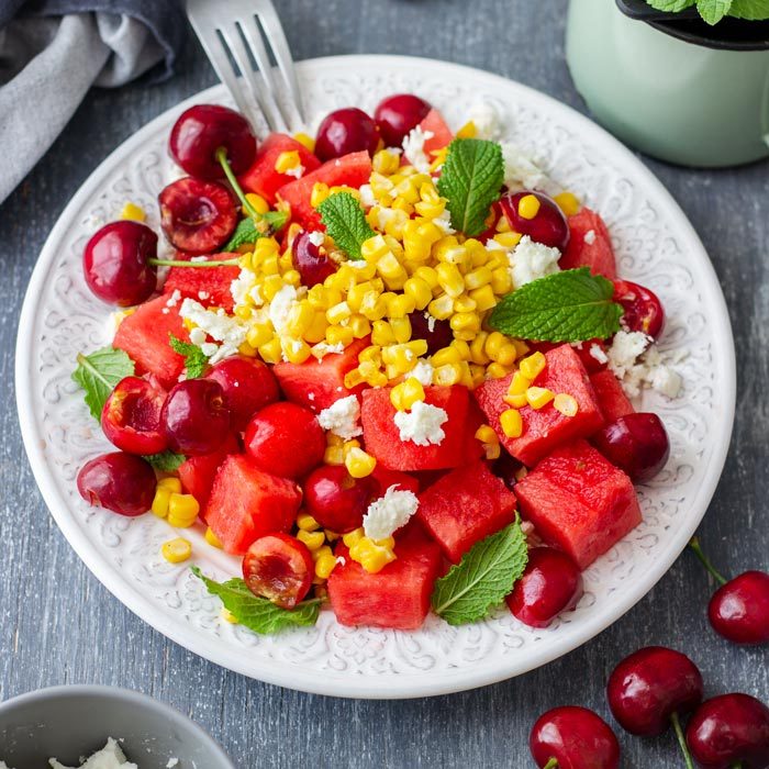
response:
M215 582L205 577L197 567L192 573L201 579L212 595L222 599L224 608L237 620L238 624L254 633L269 635L287 627L309 627L317 621L321 599L302 601L296 609L281 609L266 598L254 595L246 583L234 577L226 582Z

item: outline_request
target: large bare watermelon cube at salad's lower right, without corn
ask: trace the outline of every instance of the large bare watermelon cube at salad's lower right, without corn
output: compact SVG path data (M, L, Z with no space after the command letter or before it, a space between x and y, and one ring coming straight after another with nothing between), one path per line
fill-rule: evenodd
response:
M584 441L561 446L515 486L521 515L584 569L640 523L631 479Z

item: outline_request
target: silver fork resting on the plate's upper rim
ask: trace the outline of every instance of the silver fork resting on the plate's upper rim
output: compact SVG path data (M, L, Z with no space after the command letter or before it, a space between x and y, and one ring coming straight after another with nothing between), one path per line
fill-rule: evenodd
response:
M260 112L270 131L303 126L291 51L271 0L187 0L187 15L216 75L252 125L258 124Z

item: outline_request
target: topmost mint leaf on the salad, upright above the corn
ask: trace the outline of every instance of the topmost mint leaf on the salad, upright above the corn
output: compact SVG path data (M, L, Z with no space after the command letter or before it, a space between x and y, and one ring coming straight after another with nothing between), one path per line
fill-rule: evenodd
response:
M503 182L504 160L497 142L455 138L438 179L438 192L448 200L452 226L468 237L480 235Z

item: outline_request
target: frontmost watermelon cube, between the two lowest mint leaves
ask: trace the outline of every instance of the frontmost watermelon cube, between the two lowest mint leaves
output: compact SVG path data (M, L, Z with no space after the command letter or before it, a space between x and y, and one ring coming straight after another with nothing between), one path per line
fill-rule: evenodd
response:
M371 625L415 631L430 611L430 597L441 568L441 548L419 526L410 525L395 543L395 560L369 573L344 545L345 559L328 577L328 598L343 625Z

